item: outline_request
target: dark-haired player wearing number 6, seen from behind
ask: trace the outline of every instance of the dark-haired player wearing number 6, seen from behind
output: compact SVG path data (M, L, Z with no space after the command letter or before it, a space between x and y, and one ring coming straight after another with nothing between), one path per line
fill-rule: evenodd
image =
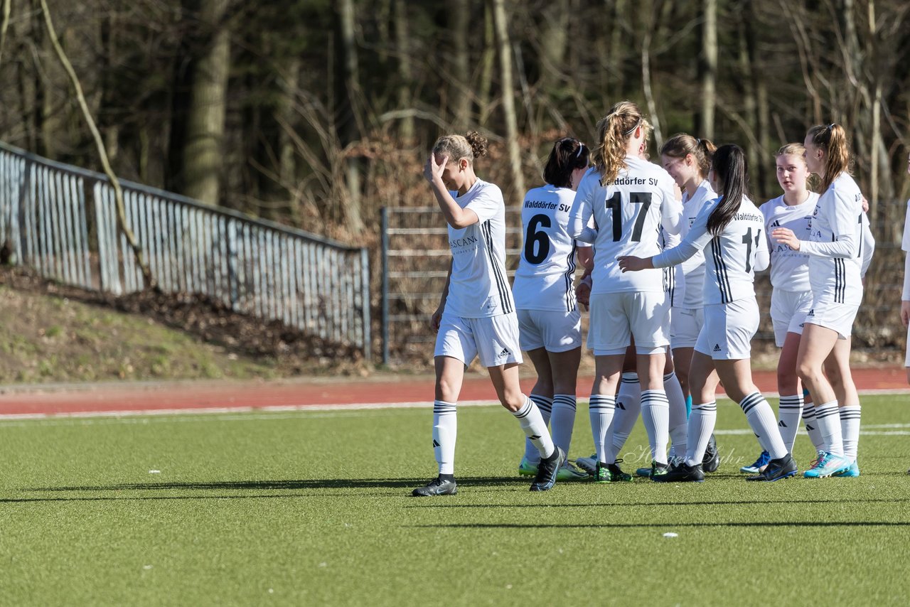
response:
M588 170L591 150L578 139L563 137L550 152L543 169L545 186L524 196L521 225L524 248L512 283L518 311L521 349L537 371L531 400L549 422L553 442L569 452L575 424L575 384L581 361L581 313L575 298L575 257L590 267L591 246L566 231L569 211L581 177ZM525 439L519 474L537 474L540 453ZM587 479L588 474L568 461L559 481Z

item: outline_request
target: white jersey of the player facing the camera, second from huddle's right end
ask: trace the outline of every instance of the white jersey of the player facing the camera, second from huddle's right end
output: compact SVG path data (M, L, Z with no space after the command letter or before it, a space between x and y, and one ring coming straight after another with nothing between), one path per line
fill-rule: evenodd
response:
M809 192L804 202L798 205L788 205L784 197L779 196L768 200L759 210L764 216L764 235L771 238L774 228L792 229L796 238L809 239L809 230L812 224L812 214L818 194ZM789 245L782 242L768 240L768 250L771 252L771 285L773 288L782 288L785 291L803 292L810 291L809 284L809 256L803 251L794 251Z

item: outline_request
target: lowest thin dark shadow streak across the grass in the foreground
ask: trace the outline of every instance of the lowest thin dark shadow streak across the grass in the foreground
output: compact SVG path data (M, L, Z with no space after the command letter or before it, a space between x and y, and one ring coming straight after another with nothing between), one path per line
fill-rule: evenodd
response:
M470 522L440 525L404 525L411 529L682 529L715 527L910 527L910 521L747 521L747 522L619 522L521 523Z

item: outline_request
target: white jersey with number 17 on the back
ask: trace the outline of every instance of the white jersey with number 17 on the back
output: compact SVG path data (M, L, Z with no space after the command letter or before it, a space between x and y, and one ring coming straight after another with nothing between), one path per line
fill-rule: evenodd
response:
M657 165L626 157L616 181L601 185L601 174L591 168L578 187L569 218L573 238L594 245L591 294L622 291L662 292L660 269L623 274L616 258L648 258L661 252L659 231L679 234L682 204L670 175ZM589 228L593 216L596 229Z

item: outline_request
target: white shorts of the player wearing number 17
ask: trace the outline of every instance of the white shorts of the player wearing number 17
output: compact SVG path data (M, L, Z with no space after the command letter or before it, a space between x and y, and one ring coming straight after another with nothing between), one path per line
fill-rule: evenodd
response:
M594 356L624 354L635 338L639 354L657 354L670 345L670 298L665 292L622 291L591 295L588 348Z

